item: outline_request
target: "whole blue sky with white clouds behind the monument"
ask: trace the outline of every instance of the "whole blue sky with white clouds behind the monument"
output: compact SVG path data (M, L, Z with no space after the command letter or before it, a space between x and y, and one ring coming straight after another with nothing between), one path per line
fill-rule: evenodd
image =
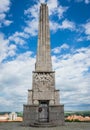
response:
M90 110L90 0L0 0L0 111L27 103L44 2L60 102L65 110Z

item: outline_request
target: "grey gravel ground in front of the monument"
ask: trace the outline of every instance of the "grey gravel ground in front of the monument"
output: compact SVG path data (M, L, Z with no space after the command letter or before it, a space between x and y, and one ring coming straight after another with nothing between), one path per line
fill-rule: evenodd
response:
M90 123L65 123L65 126L50 128L24 127L21 123L0 123L0 130L90 130Z

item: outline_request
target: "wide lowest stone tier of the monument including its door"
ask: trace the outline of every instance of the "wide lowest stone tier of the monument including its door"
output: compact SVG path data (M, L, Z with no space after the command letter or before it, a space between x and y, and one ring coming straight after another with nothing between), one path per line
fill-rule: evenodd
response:
M46 108L48 112L45 113L45 108L40 110L39 105L24 105L24 118L23 125L25 126L59 126L64 125L64 106L63 105L51 105ZM46 116L46 117L45 117ZM46 123L47 122L47 123Z

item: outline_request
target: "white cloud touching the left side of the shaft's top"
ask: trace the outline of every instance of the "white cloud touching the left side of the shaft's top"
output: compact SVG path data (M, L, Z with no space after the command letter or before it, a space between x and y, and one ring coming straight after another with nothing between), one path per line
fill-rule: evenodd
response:
M39 14L39 5L35 4L32 7L25 10L25 15L28 16L26 21L27 26L24 28L24 32L30 34L31 36L37 35L38 30L38 14Z

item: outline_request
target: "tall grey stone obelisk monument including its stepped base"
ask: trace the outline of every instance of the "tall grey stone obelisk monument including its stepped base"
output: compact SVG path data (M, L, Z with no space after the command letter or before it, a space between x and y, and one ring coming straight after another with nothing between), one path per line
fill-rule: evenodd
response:
M28 90L28 102L24 105L24 125L35 122L64 125L64 105L60 104L52 70L47 4L40 6L37 57L32 79L32 90Z

